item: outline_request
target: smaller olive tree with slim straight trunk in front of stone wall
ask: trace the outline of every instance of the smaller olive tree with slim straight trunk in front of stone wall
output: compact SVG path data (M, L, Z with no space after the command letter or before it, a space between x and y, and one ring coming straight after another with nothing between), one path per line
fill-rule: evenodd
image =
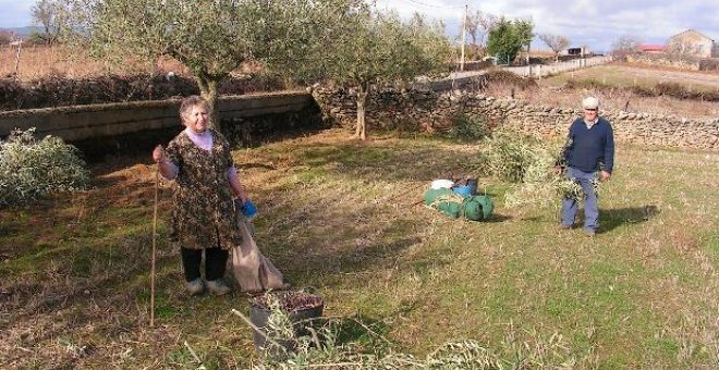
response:
M373 86L399 85L449 71L450 46L441 24L415 14L402 21L362 3L333 23L332 39L315 65L325 77L356 90L354 136L366 139L367 96ZM322 55L325 55L322 58Z

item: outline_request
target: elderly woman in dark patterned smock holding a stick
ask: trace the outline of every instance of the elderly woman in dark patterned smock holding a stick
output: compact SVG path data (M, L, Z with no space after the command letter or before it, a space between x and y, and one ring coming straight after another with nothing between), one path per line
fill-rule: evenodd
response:
M233 195L244 205L244 193L230 155L230 145L209 128L207 102L191 96L180 106L185 130L167 150L157 146L153 159L162 176L174 180L174 208L170 239L180 247L186 287L191 295L205 291L199 267L205 252L205 279L210 293L230 292L224 284L229 250L240 245Z

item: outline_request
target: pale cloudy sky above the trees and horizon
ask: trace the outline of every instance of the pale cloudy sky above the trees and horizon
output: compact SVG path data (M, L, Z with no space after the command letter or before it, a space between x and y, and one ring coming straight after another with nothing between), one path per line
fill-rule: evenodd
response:
M0 28L32 24L35 0L0 0ZM380 10L401 16L419 12L446 23L447 34L459 38L464 5L511 18L531 17L535 34L569 37L572 46L587 45L608 51L619 37L636 36L646 44L665 44L682 30L694 28L719 42L719 0L377 0ZM535 38L534 49L548 49Z

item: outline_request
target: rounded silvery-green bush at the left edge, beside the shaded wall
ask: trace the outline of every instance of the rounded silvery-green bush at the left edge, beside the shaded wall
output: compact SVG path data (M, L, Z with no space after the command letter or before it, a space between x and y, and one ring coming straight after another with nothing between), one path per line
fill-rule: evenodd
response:
M77 149L61 138L34 137L35 130L0 140L0 207L17 206L52 192L86 189L90 182Z

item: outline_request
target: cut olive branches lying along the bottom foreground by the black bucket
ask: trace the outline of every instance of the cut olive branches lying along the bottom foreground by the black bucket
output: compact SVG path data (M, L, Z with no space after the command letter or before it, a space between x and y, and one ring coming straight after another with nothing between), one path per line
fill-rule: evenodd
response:
M558 333L548 340L532 335L531 344L520 341L511 325L500 353L476 341L455 340L421 358L399 350L371 325L352 316L322 318L319 328L304 326L309 335L298 336L297 322L293 323L279 304L270 300L267 306L271 313L263 329L268 341L266 356L254 362L253 369L520 369L547 363L571 367L576 361ZM232 312L251 323L240 311ZM348 341L348 332L363 334Z

